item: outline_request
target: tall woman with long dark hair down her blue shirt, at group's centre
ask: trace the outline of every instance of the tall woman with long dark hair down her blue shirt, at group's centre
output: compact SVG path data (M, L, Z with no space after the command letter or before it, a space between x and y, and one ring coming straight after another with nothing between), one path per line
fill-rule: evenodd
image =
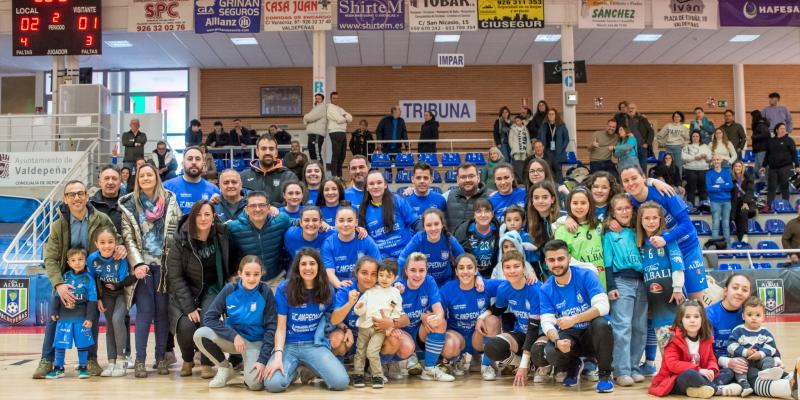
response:
M416 230L419 216L405 200L393 194L378 170L367 174L367 195L358 208L358 220L381 250L397 258Z

